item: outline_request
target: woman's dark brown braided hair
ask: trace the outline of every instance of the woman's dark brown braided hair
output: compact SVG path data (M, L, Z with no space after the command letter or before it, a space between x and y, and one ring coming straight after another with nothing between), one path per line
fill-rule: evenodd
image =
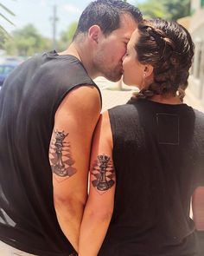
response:
M138 61L153 66L154 80L137 98L179 92L182 100L194 56L194 43L188 30L174 21L154 19L140 23L138 33L135 45Z

